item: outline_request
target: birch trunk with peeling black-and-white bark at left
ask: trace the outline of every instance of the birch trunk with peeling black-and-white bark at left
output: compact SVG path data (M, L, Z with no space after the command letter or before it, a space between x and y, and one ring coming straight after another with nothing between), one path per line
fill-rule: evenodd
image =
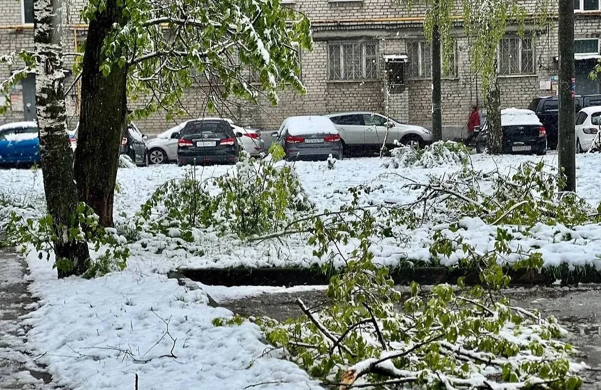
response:
M67 137L61 43L61 0L36 0L34 9L35 103L40 138L41 169L46 207L56 235L58 277L81 275L87 270L88 244L69 239L78 227L78 193L73 180L73 152ZM72 263L65 267L63 260Z

